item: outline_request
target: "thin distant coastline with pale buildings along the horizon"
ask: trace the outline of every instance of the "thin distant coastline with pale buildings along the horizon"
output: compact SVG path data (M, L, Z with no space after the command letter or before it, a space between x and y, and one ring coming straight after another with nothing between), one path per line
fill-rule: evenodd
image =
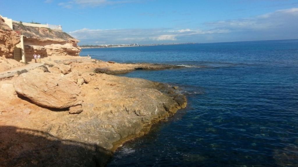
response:
M139 47L139 46L159 46L159 45L183 45L183 44L197 44L197 43L165 43L165 44L144 44L144 45L132 45L132 44L121 44L121 45L79 45L82 49L88 48L120 48L120 47Z

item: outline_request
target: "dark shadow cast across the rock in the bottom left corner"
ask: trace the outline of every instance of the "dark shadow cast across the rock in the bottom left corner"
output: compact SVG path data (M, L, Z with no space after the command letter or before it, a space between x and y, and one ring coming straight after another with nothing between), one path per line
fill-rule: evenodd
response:
M0 126L0 166L105 166L111 152L49 133Z

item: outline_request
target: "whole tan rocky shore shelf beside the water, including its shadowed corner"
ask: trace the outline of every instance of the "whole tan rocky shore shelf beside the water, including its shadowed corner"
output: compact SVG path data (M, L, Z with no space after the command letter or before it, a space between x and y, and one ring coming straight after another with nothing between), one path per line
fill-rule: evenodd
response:
M0 166L105 166L124 142L186 106L179 88L109 74L181 68L53 61L0 81Z

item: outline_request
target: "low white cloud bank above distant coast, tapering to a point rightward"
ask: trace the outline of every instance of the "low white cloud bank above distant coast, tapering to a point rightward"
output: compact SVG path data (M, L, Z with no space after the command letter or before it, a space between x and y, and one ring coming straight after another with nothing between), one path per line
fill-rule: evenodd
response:
M160 29L80 29L69 32L83 44L94 44L96 41L105 41L106 44L127 43L158 43L173 42L180 38L196 37L200 34L227 33L226 30L171 30Z

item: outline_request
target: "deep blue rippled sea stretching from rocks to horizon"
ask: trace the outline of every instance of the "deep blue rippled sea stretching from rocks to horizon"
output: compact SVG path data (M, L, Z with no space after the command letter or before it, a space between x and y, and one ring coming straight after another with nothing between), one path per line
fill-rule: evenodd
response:
M187 108L108 166L298 166L298 40L83 49L115 62L187 66L120 76L179 86Z

